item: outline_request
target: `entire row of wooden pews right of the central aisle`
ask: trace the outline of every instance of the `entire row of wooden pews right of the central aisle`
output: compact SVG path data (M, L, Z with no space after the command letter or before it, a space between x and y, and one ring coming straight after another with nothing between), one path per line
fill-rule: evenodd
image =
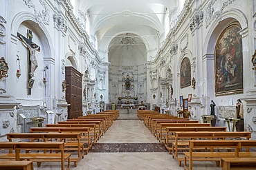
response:
M185 170L192 170L194 161L215 161L223 170L256 169L256 141L250 140L250 132L229 132L226 127L211 127L155 111L138 111L137 116L179 166L184 161Z

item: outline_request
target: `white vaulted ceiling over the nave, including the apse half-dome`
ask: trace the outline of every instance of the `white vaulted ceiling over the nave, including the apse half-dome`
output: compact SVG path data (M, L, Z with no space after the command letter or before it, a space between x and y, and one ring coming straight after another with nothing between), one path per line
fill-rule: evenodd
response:
M139 57L129 59L137 64L147 61L147 50L156 49L158 35L165 32L165 12L176 8L177 1L80 0L78 6L89 12L90 32L98 40L98 50L108 52L108 61L123 65L127 60L120 58L127 56Z

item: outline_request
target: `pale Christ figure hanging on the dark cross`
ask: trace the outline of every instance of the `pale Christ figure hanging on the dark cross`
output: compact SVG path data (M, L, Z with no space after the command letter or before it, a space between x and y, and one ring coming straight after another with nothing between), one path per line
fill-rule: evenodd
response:
M39 50L39 47L37 47L37 45L35 45L35 43L31 43L31 46L30 46L28 43L26 43L26 41L24 41L24 39L21 36L19 37L19 40L22 42L22 44L25 47L28 47L28 50L30 52L30 61L33 64L33 66L31 67L31 72L30 72L30 77L32 78L34 76L35 70L38 67L37 58L35 57L35 51Z

